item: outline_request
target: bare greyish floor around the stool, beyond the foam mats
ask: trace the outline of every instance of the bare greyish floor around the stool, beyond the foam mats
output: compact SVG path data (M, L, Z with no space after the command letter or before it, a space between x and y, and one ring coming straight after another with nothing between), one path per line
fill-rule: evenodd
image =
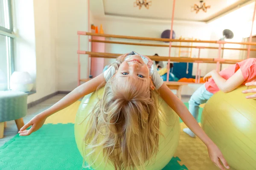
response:
M27 115L23 118L24 123L26 124L31 120L35 115L38 113L41 113L42 111L46 110L47 108L54 105L56 102L58 102L60 99L62 99L65 96L65 94L58 94L50 99L47 99L46 101L35 105L32 108L28 109ZM189 101L189 96L182 96L183 102ZM7 127L4 129L4 137L0 139L0 147L5 143L8 142L10 139L12 139L15 135L17 135L17 126L15 124L15 121L9 121L7 122Z

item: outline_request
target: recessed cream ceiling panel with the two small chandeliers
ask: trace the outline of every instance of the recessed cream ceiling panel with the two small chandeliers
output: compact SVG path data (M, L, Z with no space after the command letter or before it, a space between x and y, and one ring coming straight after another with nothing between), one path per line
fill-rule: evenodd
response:
M148 0L149 1L149 0ZM90 9L96 16L110 15L119 17L145 18L155 20L171 20L173 0L151 0L152 6L146 9L134 7L135 0L91 0ZM211 6L207 12L200 10L198 14L191 11L194 4L200 6L199 0L176 0L174 20L207 22L226 14L239 6L253 3L253 0L204 0Z

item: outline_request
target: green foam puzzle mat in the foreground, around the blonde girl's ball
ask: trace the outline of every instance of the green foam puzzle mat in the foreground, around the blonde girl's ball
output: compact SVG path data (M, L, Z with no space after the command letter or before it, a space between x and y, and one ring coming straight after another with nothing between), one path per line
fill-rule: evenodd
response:
M0 170L86 170L76 147L74 124L47 124L30 136L16 135L0 147ZM163 170L187 170L174 157Z

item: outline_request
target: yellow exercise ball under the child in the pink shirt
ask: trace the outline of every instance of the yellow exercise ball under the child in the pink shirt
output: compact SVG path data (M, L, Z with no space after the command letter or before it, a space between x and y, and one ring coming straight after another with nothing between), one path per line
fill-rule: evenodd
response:
M256 170L256 100L242 94L246 86L214 94L204 106L201 125L230 167Z

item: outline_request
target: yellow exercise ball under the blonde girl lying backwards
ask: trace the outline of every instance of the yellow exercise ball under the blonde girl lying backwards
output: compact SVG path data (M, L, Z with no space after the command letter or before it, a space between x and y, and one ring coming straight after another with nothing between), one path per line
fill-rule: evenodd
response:
M84 148L86 144L84 143L84 136L87 128L88 114L92 113L94 105L96 105L98 99L102 98L104 89L99 89L98 92L92 93L90 95L84 96L78 112L76 114L75 121L75 139L76 144L81 153L81 156L84 157ZM151 162L146 162L146 170L161 170L169 161L172 159L172 156L177 149L179 137L180 137L180 122L177 114L172 111L172 109L159 97L160 110L164 114L163 118L160 121L160 130L163 133L163 136L159 136L159 151L157 156ZM99 149L101 150L101 149ZM85 160L89 161L89 160ZM153 162L154 161L154 162ZM92 164L92 162L88 162ZM97 168L99 170L114 170L113 164L111 161L108 161L107 164L103 160L102 152L99 155L98 159L94 160L94 164L91 166L93 169Z

